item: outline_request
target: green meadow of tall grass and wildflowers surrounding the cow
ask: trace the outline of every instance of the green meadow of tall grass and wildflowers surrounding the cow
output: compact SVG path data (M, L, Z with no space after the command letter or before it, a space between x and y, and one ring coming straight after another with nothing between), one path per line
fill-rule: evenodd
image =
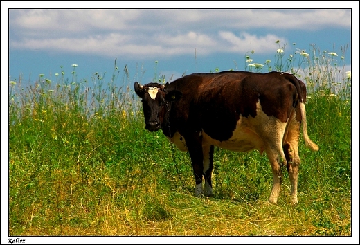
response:
M278 205L266 154L215 149L213 197L193 197L188 153L145 130L133 81L64 69L35 84L9 82L9 236L351 236L351 73L345 47L314 47L245 70L289 71L307 83L309 136L300 138L298 205L286 168ZM291 51L290 51L291 52ZM207 72L207 71L205 71ZM213 72L217 72L215 69ZM163 82L157 75L154 81ZM143 82L147 83L150 81Z

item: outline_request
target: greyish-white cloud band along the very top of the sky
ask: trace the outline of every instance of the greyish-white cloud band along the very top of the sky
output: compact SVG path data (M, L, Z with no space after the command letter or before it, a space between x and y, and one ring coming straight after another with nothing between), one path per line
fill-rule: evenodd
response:
M181 30L195 25L316 30L323 26L351 25L350 10L344 9L12 9L9 13L10 27L33 30L141 30L155 24L154 30L159 26Z

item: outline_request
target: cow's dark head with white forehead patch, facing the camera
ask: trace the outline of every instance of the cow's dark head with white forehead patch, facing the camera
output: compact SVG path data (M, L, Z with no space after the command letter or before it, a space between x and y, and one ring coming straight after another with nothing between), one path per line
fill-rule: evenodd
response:
M143 86L138 82L134 84L135 92L143 102L145 128L149 131L158 131L161 125L167 123L170 102L179 100L183 96L181 91L167 91L167 87L168 83L161 85L152 82Z

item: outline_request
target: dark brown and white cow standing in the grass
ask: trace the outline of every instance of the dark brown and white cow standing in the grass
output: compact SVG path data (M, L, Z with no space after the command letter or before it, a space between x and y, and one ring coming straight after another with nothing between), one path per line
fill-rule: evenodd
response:
M145 128L162 129L181 151L188 151L195 196L212 196L214 146L237 152L266 152L273 172L269 203L276 204L287 166L290 203L298 203L298 141L319 149L307 134L306 87L291 73L222 71L193 73L174 82L134 83ZM204 176L204 188L203 188Z

